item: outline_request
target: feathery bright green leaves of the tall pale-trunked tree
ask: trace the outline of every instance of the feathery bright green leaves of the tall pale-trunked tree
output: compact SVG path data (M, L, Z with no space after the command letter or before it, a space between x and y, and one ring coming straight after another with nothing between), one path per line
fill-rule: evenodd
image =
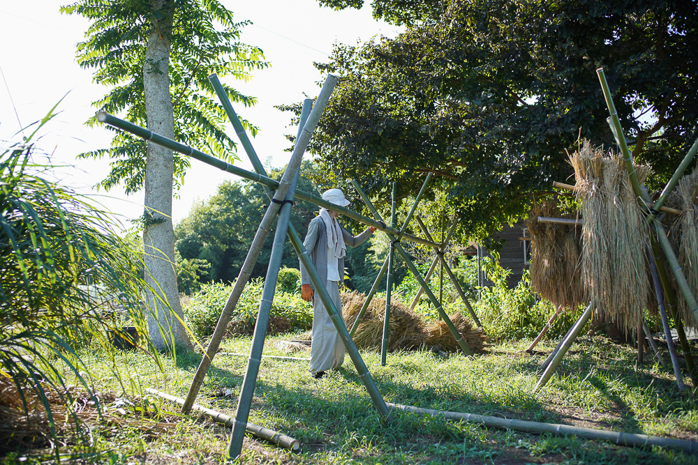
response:
M172 16L170 40L170 93L174 112L174 138L205 149L211 155L232 161L235 143L225 134L228 119L223 107L212 100L212 73L250 79L250 71L265 68L262 51L239 43L247 22L235 22L232 13L216 0L167 0L158 8L151 0L80 0L61 8L63 13L91 20L77 45L77 62L96 68L94 81L112 90L93 105L112 114L123 114L132 123L147 126L143 69L146 43L154 24L164 15ZM154 63L151 63L151 65ZM250 106L255 98L225 87L230 101ZM96 118L89 126L99 124ZM256 129L243 121L253 135ZM110 128L110 130L113 130ZM146 141L126 132L117 132L110 148L83 153L83 158L109 156L110 174L101 181L104 188L121 182L127 193L144 185ZM183 181L189 160L174 154L175 184Z

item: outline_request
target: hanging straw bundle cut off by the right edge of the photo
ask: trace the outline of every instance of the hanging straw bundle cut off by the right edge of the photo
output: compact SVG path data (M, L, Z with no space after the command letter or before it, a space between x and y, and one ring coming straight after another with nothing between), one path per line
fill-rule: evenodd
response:
M698 295L698 169L695 169L692 174L683 176L681 181L678 181L676 190L672 192L667 201L667 206L681 210L681 215L676 217L667 215L667 220L674 220L671 224L669 237L674 245L674 250L678 250L678 264L681 265L691 292L696 296ZM669 274L671 275L671 273ZM674 279L674 275L671 275L671 279ZM674 289L676 290L678 311L685 326L698 328L695 318L690 314L690 309L676 284L674 284Z

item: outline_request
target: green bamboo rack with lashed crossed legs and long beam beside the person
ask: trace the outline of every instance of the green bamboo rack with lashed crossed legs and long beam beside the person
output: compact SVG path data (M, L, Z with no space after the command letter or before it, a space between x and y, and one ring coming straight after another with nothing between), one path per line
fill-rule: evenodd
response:
M221 86L221 83L218 81L218 77L216 75L211 75L209 77L209 80L211 81L211 84L214 86L214 90L216 91L218 98L221 99L221 104L223 105L225 112L228 114L228 117L230 118L230 121L242 142L242 146L244 147L248 157L250 158L253 164L253 167L256 171L255 173L230 165L229 163L223 162L223 160L211 157L206 153L198 151L184 144L180 144L179 142L176 142L172 139L168 139L161 135L157 135L154 132L151 132L150 130L141 128L140 126L134 125L133 123L129 123L128 121L118 119L105 112L99 112L97 115L98 121L107 123L121 130L126 130L127 132L131 132L133 135L142 137L143 139L164 146L165 148L169 148L172 151L183 153L184 155L188 155L191 158L195 158L197 160L205 162L208 165L217 167L218 169L222 169L223 171L228 171L232 174L236 174L237 176L248 179L250 181L258 182L262 184L267 196L271 200L269 202L269 207L265 212L264 218L262 218L262 222L260 222L260 226L258 227L257 233L255 234L255 238L244 261L242 269L240 270L239 276L235 282L235 286L233 287L233 290L231 291L230 296L228 297L227 303L223 307L221 317L218 319L216 329L214 330L214 335L211 337L211 342L209 342L207 351L205 355L202 357L201 363L197 369L197 372L194 375L187 397L186 399L184 399L182 412L188 413L192 409L192 406L194 404L196 396L198 395L203 379L211 365L211 362L213 361L218 347L220 346L221 340L223 339L223 335L225 334L225 328L227 328L228 323L230 323L230 319L232 318L235 306L237 305L240 296L242 296L242 291L244 290L244 287L251 276L251 271L257 261L257 257L259 256L261 247L264 244L265 239L267 238L269 231L272 228L272 223L274 222L274 219L278 215L279 220L276 224L276 231L274 233L272 256L269 259L269 266L267 267L267 276L265 278L264 289L262 290L262 298L260 300L257 322L255 324L252 348L250 351L248 365L242 383L242 389L237 405L237 411L235 413L235 420L233 420L230 444L228 446L229 457L238 457L240 455L240 452L242 451L242 440L244 438L244 433L248 425L247 420L249 417L253 392L255 389L255 384L259 372L262 357L262 349L264 346L267 326L269 323L269 315L271 312L272 300L274 298L274 290L276 288L276 279L279 274L281 259L283 257L283 244L285 241L285 236L288 236L299 259L302 261L306 269L309 271L311 282L313 282L315 289L318 291L318 296L322 300L322 303L325 305L325 309L329 313L330 319L334 323L334 326L339 333L339 337L344 343L344 346L352 360L352 363L354 363L355 367L357 368L359 378L364 383L364 386L366 387L366 390L369 393L369 397L371 397L374 406L376 406L376 409L378 410L380 418L382 418L385 422L389 421L390 412L385 404L385 401L383 400L382 395L380 395L380 392L376 387L376 383L373 381L373 378L371 377L371 374L369 373L366 364L359 355L359 351L357 350L354 342L352 341L352 338L350 336L349 331L346 328L344 320L342 319L338 310L334 306L334 303L332 302L332 299L329 297L329 294L327 294L327 291L324 287L324 283L320 282L318 272L311 263L308 252L304 249L300 236L297 234L297 231L295 231L293 225L289 222L290 206L293 203L293 199L295 198L311 201L313 204L325 208L331 208L334 211L339 211L339 213L346 215L349 218L362 222L363 224L368 224L369 226L376 227L377 229L380 229L386 234L389 234L390 236L395 238L395 241L392 243L392 248L396 248L400 252L400 254L403 256L403 259L405 259L406 263L408 264L410 270L415 274L417 280L419 280L420 284L422 285L422 288L426 290L427 294L429 295L429 298L432 300L433 303L436 303L436 297L433 296L431 291L429 291L426 282L424 282L421 275L419 275L417 268L415 267L411 259L408 257L406 252L404 252L399 243L397 243L402 238L405 238L409 241L422 243L424 245L431 245L435 248L439 247L439 244L434 243L433 241L425 240L417 236L408 234L406 232L408 222L412 217L415 209L417 208L417 204L419 203L419 199L422 197L426 185L429 183L429 180L431 179L431 174L427 176L426 182L424 183L422 190L419 192L417 201L415 201L412 211L410 211L410 215L408 215L408 220L405 222L403 228L399 230L394 228L394 222L391 227L387 227L385 223L382 220L380 220L380 215L378 216L379 220L374 221L370 218L364 217L363 215L359 215L358 213L355 213L354 211L351 211L348 208L330 204L329 202L325 201L324 199L321 199L320 197L309 195L305 192L296 190L295 187L297 184L297 178L299 174L299 167L302 160L302 156L310 142L312 132L317 126L318 121L320 120L320 116L322 115L322 112L324 111L325 106L329 101L329 96L332 94L332 90L334 89L334 86L337 81L337 78L335 76L329 75L325 80L325 85L322 86L322 90L320 91L320 95L318 96L315 105L312 106L311 100L309 99L304 102L301 114L301 121L299 125L298 137L294 147L294 151L291 155L291 159L287 165L287 168L284 171L281 181L274 181L273 179L267 176L264 168L262 167L262 164L257 154L255 153L254 148L252 147L252 144L249 138L247 137L246 132L244 131L244 128L242 127L242 123L240 123L237 114L235 114L235 110L232 108L232 105L230 104L230 100L228 100L228 96L225 93L225 89L223 89L223 86ZM373 208L373 206L371 206L371 208ZM375 211L375 208L373 208L373 211ZM470 351L468 346L465 344L460 333L455 328L453 323L450 321L447 314L445 314L443 309L440 308L440 305L438 306L438 310L441 316L445 319L447 326L456 338L456 341L458 342L459 346L461 346L463 353L471 355L472 351ZM386 314L386 331L388 319L387 317L388 315ZM385 351L385 346L387 346L387 332L385 333L384 338L385 342L383 344L383 351ZM385 360L385 354L383 355L383 360Z

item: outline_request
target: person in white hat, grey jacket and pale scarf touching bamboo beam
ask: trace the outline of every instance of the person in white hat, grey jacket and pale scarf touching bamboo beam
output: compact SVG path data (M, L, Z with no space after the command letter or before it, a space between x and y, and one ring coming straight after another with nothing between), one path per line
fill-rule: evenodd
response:
M329 189L322 194L322 199L334 205L348 206L349 201L340 189ZM339 213L326 208L320 209L320 214L313 218L308 227L303 245L308 251L311 262L318 270L320 282L325 283L325 289L336 307L342 314L339 297L339 283L344 278L344 257L346 247L356 247L366 241L374 227L366 228L358 236L352 236L344 229L337 217ZM320 379L329 369L340 367L344 362L344 344L339 338L332 319L329 318L325 305L315 294L313 284L303 264L301 269L301 295L304 300L313 304L313 342L310 352L310 372L315 379Z

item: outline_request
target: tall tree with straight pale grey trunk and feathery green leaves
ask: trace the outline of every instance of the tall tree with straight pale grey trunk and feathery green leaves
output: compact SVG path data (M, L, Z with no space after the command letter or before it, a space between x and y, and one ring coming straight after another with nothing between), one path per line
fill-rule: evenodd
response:
M248 79L250 70L266 63L260 49L237 43L244 23L234 22L220 2L80 0L61 11L92 21L87 40L77 45L77 60L82 67L96 68L95 82L113 86L94 102L96 107L124 113L133 123L229 161L234 158L235 144L223 130L225 112L211 100L214 91L207 77L217 73ZM233 102L254 103L233 89L226 91ZM158 349L191 346L181 325L172 229L172 186L181 183L188 160L124 132L114 136L110 148L81 156L105 155L112 170L102 187L124 182L127 193L145 191L145 274L171 306L170 311L156 305L154 296L148 299L151 338Z

